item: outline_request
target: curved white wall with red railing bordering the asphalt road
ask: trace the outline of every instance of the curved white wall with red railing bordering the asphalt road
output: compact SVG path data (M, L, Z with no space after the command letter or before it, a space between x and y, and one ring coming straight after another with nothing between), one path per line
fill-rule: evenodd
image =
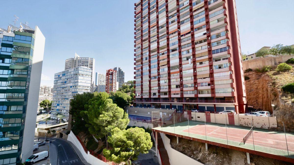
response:
M68 134L67 140L72 142L77 148L78 150L81 152L81 154L83 155L83 157L85 158L85 160L92 165L108 165L107 163L101 161L100 159L96 158L95 156L91 155L90 152L85 152L85 150L83 149L82 144L78 141L78 139L76 138L76 135L73 132L70 132Z

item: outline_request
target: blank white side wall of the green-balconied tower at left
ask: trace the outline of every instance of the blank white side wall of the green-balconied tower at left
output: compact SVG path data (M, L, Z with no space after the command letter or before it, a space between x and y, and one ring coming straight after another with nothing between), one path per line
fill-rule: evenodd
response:
M26 107L26 119L24 124L24 135L21 149L21 159L24 162L33 154L36 118L39 100L39 90L41 83L41 73L43 65L45 47L45 37L38 28L35 27L34 56L31 69L31 81L29 86L28 103Z

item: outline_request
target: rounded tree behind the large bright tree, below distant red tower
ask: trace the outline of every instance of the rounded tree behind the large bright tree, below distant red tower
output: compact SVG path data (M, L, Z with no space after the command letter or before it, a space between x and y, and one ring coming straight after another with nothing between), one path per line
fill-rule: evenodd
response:
M130 105L132 102L132 97L124 92L117 91L115 93L111 93L110 97L114 103L117 104L118 107L124 108L126 105Z

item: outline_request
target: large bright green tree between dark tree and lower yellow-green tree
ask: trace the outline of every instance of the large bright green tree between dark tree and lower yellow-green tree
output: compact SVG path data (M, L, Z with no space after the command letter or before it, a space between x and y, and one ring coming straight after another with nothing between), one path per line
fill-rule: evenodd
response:
M101 101L103 102L103 101ZM88 109L89 132L98 138L106 137L106 147L108 147L108 134L115 127L126 129L130 120L128 114L112 102L111 99L106 99L101 105L101 102L95 100L91 102Z

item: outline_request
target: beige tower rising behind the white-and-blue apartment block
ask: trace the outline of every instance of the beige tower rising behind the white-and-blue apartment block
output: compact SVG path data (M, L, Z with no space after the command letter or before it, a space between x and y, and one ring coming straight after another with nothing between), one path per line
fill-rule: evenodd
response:
M64 70L69 70L69 69L76 68L79 66L88 67L88 68L92 69L91 92L93 92L95 59L89 58L89 57L80 57L78 54L75 53L74 58L69 58L69 59L65 60Z

